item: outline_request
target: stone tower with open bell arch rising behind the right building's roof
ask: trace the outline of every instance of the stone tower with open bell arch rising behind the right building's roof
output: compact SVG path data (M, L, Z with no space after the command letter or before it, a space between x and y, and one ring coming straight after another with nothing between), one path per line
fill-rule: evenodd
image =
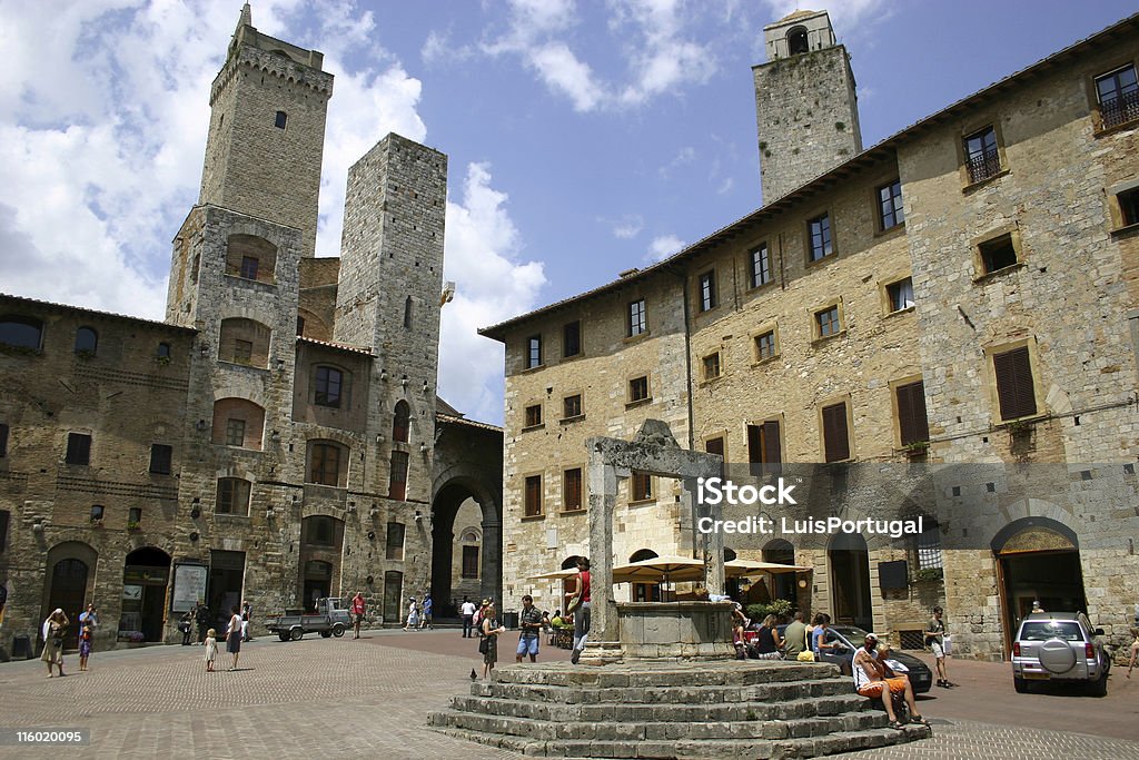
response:
M755 75L763 203L862 150L854 73L825 10L796 10L763 27L768 62Z

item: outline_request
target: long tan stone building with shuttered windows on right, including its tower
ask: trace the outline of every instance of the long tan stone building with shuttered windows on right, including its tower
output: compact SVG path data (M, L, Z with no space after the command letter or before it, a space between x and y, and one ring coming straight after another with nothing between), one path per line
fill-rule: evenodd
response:
M765 36L765 205L483 330L507 350L506 604L558 606L528 579L588 551L585 440L658 418L728 463L828 465L835 513L925 518L901 542L726 537L812 569L771 596L903 645L942 604L976 657L1006 654L1034 599L1120 639L1139 599L1139 18L868 149L827 15ZM629 475L616 559L696 553L675 485Z

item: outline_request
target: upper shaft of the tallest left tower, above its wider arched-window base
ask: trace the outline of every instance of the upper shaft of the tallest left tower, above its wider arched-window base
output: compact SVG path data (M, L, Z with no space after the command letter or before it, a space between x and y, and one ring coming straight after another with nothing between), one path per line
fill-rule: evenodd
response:
M199 204L296 227L314 255L325 117L333 76L323 55L257 32L241 10L210 92Z

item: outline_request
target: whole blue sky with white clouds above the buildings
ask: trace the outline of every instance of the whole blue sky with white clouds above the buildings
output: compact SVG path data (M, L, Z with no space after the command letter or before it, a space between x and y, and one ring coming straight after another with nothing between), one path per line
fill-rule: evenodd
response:
M502 418L475 330L674 253L762 204L751 66L784 0L253 3L326 54L318 255L347 166L388 131L450 156L440 394ZM827 9L869 146L1134 11L1130 2ZM240 2L0 0L0 292L162 319L208 88Z

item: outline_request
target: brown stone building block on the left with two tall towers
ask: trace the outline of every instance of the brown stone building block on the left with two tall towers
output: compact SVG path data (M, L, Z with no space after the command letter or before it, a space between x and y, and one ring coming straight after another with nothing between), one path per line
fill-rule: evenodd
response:
M436 397L446 156L380 140L316 258L321 64L246 5L164 322L0 296L5 646L85 602L100 645L169 639L199 599L262 621L360 590L392 623L452 602L457 553L497 596L501 431Z

